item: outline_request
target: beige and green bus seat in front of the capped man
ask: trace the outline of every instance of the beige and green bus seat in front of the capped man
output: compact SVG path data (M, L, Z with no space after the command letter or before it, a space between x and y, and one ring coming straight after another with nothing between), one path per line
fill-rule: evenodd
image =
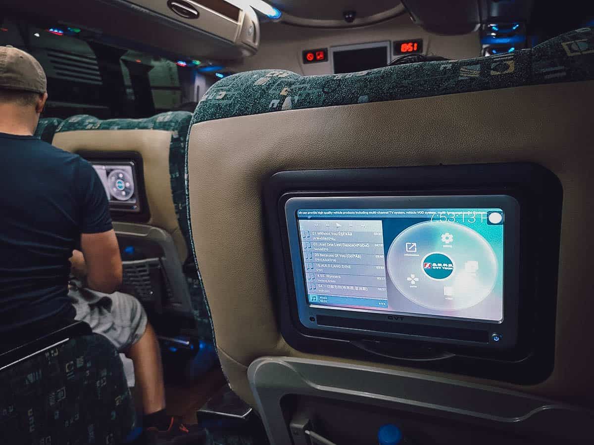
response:
M167 112L147 119L100 120L88 115L72 116L58 127L53 145L67 151L92 152L93 156L106 160L117 152L135 151L141 155L150 211L150 220L142 225L160 228L172 237L179 270L184 272L181 276L186 281L184 292L187 289L189 293L188 309L202 336L211 338L200 276L193 261L189 262L191 267L183 266L190 251L184 171L190 119L189 112ZM120 222L118 217L113 220L116 224ZM135 228L125 225L125 230ZM175 282L173 276L168 279Z

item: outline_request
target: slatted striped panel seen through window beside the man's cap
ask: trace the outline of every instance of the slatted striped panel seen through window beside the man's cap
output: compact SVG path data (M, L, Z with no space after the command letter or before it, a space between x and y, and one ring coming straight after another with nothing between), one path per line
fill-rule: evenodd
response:
M96 58L56 49L48 49L47 53L56 78L91 85L102 84Z

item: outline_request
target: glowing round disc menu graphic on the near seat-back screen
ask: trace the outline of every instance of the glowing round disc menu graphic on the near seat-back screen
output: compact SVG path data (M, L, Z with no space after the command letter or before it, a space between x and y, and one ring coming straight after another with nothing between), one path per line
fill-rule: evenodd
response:
M434 310L475 306L491 293L498 274L495 252L484 237L448 221L419 222L403 230L386 263L402 295Z

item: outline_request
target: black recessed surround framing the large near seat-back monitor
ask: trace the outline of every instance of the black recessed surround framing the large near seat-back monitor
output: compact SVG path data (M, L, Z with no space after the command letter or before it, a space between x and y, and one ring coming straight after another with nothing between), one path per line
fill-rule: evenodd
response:
M485 351L412 339L320 335L299 329L299 323L294 323L292 266L285 209L280 199L283 195L304 193L513 196L520 204L516 348ZM280 330L292 347L315 354L414 365L513 383L541 382L551 373L563 201L563 189L551 171L530 163L282 171L268 178L263 194ZM532 227L526 224L527 215ZM422 355L421 351L428 352L426 358L414 358L417 353Z

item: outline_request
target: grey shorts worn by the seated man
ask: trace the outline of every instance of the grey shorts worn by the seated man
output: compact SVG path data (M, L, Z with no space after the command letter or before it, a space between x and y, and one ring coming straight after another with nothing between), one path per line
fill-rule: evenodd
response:
M76 319L89 323L93 332L105 335L119 352L140 340L147 327L147 314L132 295L102 294L72 282L68 296L76 309Z

